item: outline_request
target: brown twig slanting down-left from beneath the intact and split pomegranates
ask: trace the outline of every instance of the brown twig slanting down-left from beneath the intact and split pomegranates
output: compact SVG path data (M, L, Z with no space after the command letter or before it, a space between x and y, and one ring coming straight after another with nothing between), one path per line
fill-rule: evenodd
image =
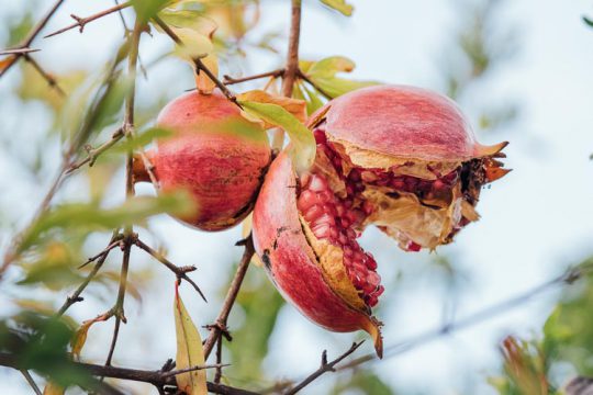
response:
M251 235L249 235L245 240L243 240L242 244L245 245L245 251L243 252L243 257L240 258L237 271L235 273L235 276L233 278L233 281L231 282L228 291L226 292L226 297L224 298L224 303L221 312L219 313L216 321L214 323L214 325L209 326L210 335L204 343L204 359L208 359L210 352L212 352L212 349L219 340L219 337L223 332L227 331L226 321L228 319L228 315L231 314L231 309L235 304L240 285L243 284L243 280L245 279L245 274L247 273L247 269L249 268L249 262L251 261L251 257L254 256L254 242L251 239Z

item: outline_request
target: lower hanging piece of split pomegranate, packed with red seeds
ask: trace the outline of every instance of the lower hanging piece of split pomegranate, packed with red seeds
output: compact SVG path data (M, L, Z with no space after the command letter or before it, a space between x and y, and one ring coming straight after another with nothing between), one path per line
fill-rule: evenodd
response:
M368 331L381 356L370 305L383 287L374 259L356 242L353 219L323 176L296 179L284 150L257 199L254 245L277 289L304 316L334 331Z

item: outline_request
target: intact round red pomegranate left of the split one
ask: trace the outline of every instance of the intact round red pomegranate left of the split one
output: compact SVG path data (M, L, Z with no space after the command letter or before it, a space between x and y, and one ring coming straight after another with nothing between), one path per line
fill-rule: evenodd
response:
M271 160L266 132L240 115L219 92L186 93L160 112L157 126L171 137L147 156L163 191L190 192L197 212L179 219L203 230L223 230L251 211ZM135 181L149 181L141 160Z

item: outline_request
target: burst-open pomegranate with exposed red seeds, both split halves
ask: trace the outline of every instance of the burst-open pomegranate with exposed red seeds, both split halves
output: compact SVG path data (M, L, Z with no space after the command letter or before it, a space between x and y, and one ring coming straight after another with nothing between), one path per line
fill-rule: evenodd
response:
M357 238L377 225L409 251L450 242L481 187L508 170L506 143L482 146L449 99L379 86L342 95L309 122L317 151L296 174L275 159L254 211L254 244L282 294L334 331L368 331L382 354L371 307L383 293L377 262Z

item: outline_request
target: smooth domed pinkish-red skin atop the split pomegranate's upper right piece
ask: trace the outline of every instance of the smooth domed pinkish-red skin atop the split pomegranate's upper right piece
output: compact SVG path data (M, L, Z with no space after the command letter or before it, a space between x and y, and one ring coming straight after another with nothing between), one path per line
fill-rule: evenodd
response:
M416 87L362 88L332 100L311 120L324 113L336 140L398 158L465 161L506 146L480 145L452 100Z

